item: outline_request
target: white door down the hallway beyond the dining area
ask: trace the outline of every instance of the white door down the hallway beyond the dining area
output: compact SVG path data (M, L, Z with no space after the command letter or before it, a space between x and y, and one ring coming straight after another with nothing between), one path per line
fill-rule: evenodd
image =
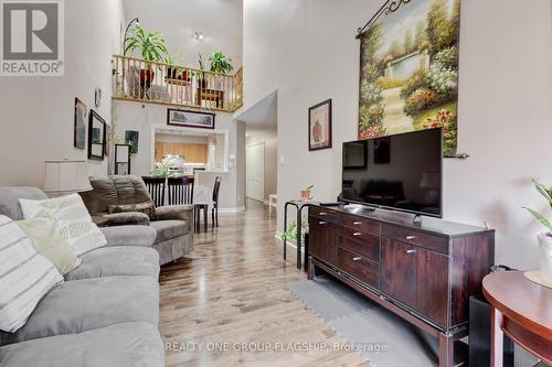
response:
M245 151L247 176L247 197L264 202L265 199L265 143L252 144Z

